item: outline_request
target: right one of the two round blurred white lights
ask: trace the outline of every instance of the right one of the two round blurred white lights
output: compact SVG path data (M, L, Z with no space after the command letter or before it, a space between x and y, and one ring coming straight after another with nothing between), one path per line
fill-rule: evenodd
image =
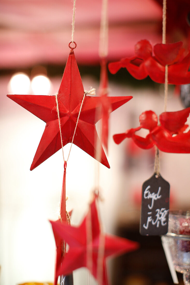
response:
M35 95L48 95L50 87L50 80L43 75L35 76L31 81L31 88Z

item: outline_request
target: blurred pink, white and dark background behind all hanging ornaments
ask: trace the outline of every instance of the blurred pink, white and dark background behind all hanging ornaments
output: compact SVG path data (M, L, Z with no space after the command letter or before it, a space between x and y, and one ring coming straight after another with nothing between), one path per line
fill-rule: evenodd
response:
M76 1L74 41L84 89L98 90L101 0ZM58 218L63 176L61 150L29 170L45 123L11 101L7 93L54 95L59 89L71 40L70 0L1 0L0 2L0 284L52 282L55 244L48 219ZM187 0L167 1L167 42L182 40L189 48ZM155 0L109 0L108 61L134 55L141 39L162 40L162 3ZM159 237L141 237L141 187L153 174L154 151L131 140L116 145L115 133L139 125L139 115L164 109L164 87L149 78L138 81L121 69L109 74L110 96L133 96L110 115L108 161L100 166L100 204L104 230L139 241L138 251L110 263L113 285L173 284ZM188 96L188 88L186 88ZM167 111L184 106L180 87L169 86ZM68 153L70 144L64 147ZM67 156L67 155L66 155ZM160 153L161 175L171 186L171 209L190 208L190 154ZM96 180L96 161L72 146L67 164L67 209L78 225L88 209ZM74 284L87 284L84 269ZM180 279L180 282L181 279Z

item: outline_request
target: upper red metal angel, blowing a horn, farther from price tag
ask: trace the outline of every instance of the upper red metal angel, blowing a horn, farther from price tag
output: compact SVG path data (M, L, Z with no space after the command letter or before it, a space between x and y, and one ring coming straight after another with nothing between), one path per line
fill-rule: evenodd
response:
M184 49L182 42L173 44L156 44L152 46L148 40L140 40L135 45L135 56L122 58L118 62L112 62L108 68L112 74L118 72L120 68L126 68L136 79L144 79L148 75L157 82L165 82L165 66L168 65L169 84L190 83L190 52L183 56Z

